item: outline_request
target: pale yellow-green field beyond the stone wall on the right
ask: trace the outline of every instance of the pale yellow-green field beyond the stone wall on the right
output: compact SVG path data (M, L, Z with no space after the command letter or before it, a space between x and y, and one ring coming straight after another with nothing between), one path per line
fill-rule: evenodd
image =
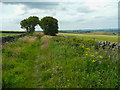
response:
M88 39L88 40L95 38L96 41L118 42L117 35L94 35L94 34L90 35L90 34L71 34L71 33L58 33L58 35L77 36L77 37L82 37L83 39Z

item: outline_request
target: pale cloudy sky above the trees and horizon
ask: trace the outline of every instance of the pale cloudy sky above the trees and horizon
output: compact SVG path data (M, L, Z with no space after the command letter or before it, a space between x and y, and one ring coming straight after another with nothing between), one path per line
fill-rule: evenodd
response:
M2 0L2 30L23 30L20 21L29 16L52 16L59 30L118 28L119 0ZM41 31L36 26L36 31Z

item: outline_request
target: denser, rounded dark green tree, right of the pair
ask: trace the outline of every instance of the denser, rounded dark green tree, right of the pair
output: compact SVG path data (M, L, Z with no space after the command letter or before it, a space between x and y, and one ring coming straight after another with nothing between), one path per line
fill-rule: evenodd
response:
M58 33L58 20L53 17L46 16L42 18L39 25L43 29L45 35L54 36Z

